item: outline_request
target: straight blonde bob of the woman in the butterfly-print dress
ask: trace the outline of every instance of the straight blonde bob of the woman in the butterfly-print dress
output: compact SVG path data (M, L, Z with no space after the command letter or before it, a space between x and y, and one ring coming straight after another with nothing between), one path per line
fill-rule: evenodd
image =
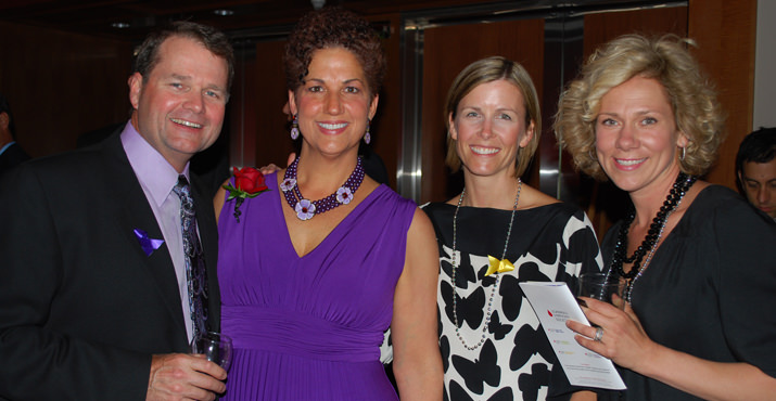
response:
M461 159L456 152L456 140L450 137L449 116L453 116L453 119L456 118L458 104L469 92L474 90L474 88L482 83L501 79L514 85L523 95L523 103L525 104L525 128L529 128L531 121L534 122L534 130L530 132L532 134L531 141L525 147L518 150L517 159L514 160L514 178L522 176L529 168L529 164L531 163L534 152L536 152L536 146L538 146L542 133L542 116L539 114L539 101L536 95L536 88L534 88L531 76L522 65L501 56L492 56L475 61L463 68L453 81L453 86L447 93L447 105L445 107L447 156L445 157L445 164L453 172L460 169Z

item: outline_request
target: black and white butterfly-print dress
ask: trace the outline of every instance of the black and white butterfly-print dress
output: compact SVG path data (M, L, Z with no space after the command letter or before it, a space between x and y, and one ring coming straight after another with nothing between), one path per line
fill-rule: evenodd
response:
M455 206L434 203L431 218L440 245L440 348L445 371L445 400L565 399L569 385L538 319L518 283L567 282L576 292L583 271L600 270L598 242L587 216L567 204L550 204L514 215L507 259L514 270L485 276L487 256L500 258L511 210L461 207L458 211L456 260L457 314L453 319L451 253ZM496 275L500 274L495 292ZM488 301L493 314L485 328Z

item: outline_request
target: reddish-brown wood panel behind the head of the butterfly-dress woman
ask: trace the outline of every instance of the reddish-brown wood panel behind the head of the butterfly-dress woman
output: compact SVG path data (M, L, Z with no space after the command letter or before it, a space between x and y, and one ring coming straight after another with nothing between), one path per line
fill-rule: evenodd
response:
M542 96L544 20L469 24L429 28L423 49L421 203L440 202L459 193L445 166L447 131L444 105L453 79L470 63L503 55L521 63ZM540 103L540 100L539 100Z

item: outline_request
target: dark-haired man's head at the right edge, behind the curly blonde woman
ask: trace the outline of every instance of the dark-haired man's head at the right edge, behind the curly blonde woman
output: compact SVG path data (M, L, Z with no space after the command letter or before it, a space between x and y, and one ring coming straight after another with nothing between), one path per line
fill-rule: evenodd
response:
M736 177L749 203L776 221L776 128L760 128L741 141Z

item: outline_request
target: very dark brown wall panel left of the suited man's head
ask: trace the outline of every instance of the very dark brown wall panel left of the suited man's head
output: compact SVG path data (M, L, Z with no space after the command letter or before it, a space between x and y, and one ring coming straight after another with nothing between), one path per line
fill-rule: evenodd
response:
M0 23L0 66L18 143L34 157L129 117L131 43Z

